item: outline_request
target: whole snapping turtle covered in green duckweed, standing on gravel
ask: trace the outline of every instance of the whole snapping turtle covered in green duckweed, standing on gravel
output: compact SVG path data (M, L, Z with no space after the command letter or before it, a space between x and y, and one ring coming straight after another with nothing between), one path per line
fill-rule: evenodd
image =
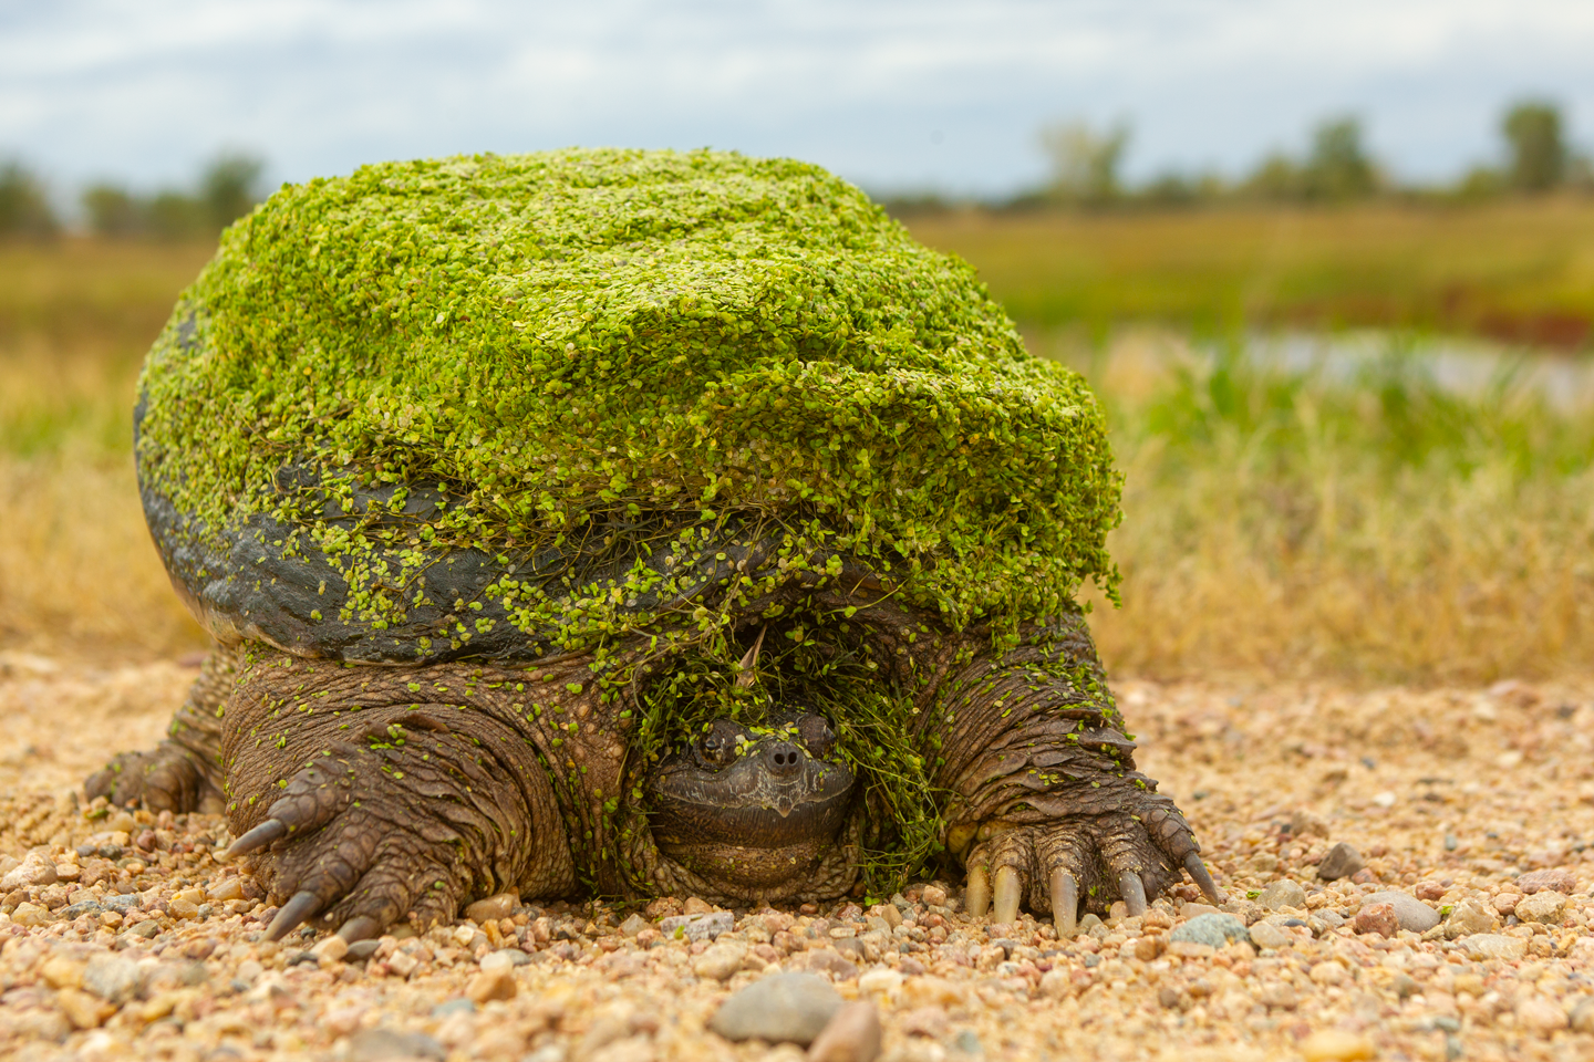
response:
M223 810L346 938L504 888L1132 912L1191 830L1074 595L1119 479L1081 379L807 164L559 151L284 186L135 411L217 642L91 795Z

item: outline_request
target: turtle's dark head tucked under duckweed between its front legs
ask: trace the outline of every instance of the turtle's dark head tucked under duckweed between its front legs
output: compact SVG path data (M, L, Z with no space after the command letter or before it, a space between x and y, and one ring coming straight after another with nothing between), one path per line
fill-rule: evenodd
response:
M830 724L811 712L759 728L714 720L647 779L654 842L728 892L803 879L835 845L851 804L853 772L834 752Z

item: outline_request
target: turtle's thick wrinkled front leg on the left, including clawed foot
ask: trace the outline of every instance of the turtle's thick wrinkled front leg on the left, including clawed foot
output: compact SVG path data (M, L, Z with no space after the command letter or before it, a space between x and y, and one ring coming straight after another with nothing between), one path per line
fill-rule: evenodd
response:
M282 904L269 939L311 922L352 941L574 885L547 736L515 713L548 694L508 696L515 677L252 656L223 736L226 858L249 857Z

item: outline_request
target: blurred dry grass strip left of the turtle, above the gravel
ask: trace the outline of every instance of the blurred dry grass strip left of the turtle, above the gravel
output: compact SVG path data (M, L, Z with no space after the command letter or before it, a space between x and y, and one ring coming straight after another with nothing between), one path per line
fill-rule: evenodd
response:
M204 247L0 245L0 643L202 645L143 529L132 396Z

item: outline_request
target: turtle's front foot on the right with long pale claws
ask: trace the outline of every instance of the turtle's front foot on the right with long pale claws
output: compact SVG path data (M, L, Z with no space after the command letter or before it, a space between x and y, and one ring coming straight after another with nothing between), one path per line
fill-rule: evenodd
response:
M1050 911L1058 936L1066 938L1081 901L1106 909L1122 900L1130 916L1140 916L1148 898L1176 884L1181 871L1208 900L1224 903L1189 823L1170 798L1151 791L1154 785L1133 774L1108 775L1035 801L1044 804L1049 822L1036 823L1027 809L1028 822L982 823L964 860L968 912L990 911L995 922L1012 922L1022 903Z

